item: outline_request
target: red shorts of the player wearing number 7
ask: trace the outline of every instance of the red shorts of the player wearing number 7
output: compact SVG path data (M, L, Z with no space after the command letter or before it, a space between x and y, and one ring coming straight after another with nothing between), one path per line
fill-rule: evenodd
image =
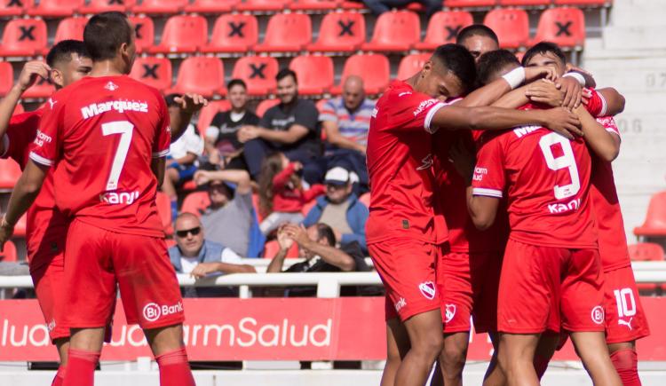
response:
M115 306L116 284L129 324L144 329L184 320L176 272L163 239L110 232L74 220L65 249L64 323L101 327Z

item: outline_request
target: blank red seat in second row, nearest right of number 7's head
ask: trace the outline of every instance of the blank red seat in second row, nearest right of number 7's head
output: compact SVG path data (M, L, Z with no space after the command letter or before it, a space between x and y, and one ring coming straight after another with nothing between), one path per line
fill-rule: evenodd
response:
M164 25L162 41L152 53L196 52L208 41L208 22L203 16L171 16Z

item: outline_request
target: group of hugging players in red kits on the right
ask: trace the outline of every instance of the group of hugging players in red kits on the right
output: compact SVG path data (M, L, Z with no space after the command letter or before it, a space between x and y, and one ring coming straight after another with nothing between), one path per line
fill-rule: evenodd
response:
M571 338L595 385L640 385L649 334L611 161L624 99L556 44L522 63L473 25L370 122L367 239L386 289L382 385L462 384L472 316L484 385L537 385ZM442 330L443 327L443 330Z

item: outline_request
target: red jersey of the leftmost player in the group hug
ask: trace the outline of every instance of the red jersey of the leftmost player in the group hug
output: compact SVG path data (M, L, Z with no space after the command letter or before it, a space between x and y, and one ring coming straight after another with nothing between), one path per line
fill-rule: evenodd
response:
M408 237L448 240L432 208L432 116L444 103L394 82L377 101L368 134L370 217L368 243Z

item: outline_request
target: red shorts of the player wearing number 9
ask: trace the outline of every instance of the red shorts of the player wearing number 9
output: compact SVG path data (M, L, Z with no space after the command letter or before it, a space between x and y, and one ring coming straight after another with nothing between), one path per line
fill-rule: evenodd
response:
M497 327L510 334L604 331L597 249L538 247L509 240L497 300Z

